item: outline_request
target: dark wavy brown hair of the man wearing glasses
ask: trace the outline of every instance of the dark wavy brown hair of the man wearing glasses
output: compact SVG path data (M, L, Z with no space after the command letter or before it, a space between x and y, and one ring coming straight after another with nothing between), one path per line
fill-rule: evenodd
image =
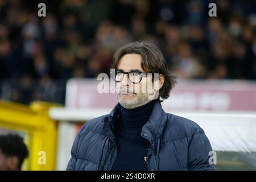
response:
M177 81L176 77L169 71L166 60L164 59L160 49L154 44L145 41L127 43L114 53L114 69L117 69L120 59L126 54L141 55L141 67L145 71L159 73L164 76L164 83L162 88L159 90L159 96L156 101L163 102L164 99L168 98Z

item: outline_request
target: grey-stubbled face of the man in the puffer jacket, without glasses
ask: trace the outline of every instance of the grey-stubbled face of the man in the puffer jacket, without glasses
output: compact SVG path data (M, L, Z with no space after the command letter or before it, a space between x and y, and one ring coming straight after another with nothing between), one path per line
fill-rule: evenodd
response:
M145 72L141 67L142 57L138 54L126 54L121 57L118 68L123 72L139 71ZM124 75L121 82L117 82L117 99L119 103L126 109L134 109L149 102L148 90L142 92L142 88L146 88L147 84L152 82L151 76L142 77L141 82L134 84L127 75Z

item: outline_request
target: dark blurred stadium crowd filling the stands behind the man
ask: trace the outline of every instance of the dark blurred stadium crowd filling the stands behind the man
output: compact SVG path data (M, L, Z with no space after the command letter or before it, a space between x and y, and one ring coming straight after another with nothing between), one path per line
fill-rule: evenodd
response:
M256 1L0 0L0 98L63 104L69 78L109 73L135 40L158 45L179 78L255 80L255 32Z

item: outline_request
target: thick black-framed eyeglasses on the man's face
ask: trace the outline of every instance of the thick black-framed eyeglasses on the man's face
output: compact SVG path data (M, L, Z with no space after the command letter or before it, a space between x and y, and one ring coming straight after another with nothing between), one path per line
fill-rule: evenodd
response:
M113 73L113 72L115 74L115 82L121 82L125 74L127 74L129 77L129 80L134 84L138 84L139 82L141 82L142 77L146 77L148 74L153 76L154 74L154 73L142 73L138 71L131 71L131 72L123 72L120 70L110 71L110 73Z

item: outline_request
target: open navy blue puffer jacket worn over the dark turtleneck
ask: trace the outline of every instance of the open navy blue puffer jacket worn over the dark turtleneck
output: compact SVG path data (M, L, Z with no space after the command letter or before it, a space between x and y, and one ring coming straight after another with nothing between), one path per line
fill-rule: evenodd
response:
M85 123L76 136L67 170L105 170L117 156L113 128L118 121L116 105L108 115ZM210 142L195 122L165 113L156 102L141 137L148 140L148 170L213 170L209 164Z

